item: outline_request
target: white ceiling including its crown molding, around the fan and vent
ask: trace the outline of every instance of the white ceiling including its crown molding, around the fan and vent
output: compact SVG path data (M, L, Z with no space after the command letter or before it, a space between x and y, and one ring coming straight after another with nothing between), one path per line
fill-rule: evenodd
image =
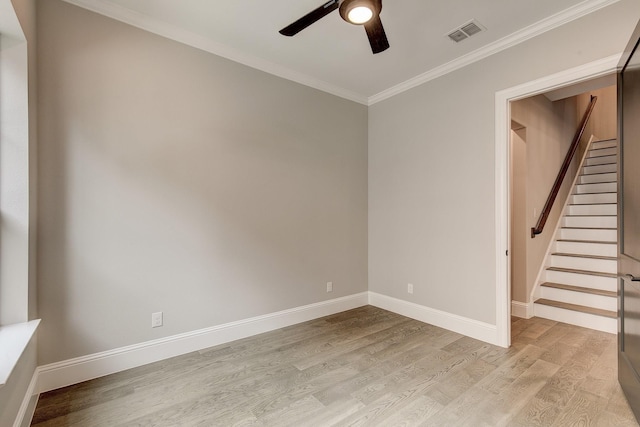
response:
M332 12L294 37L278 30L323 0L65 0L174 40L363 104L522 42L618 0L383 0L391 47ZM487 30L454 43L475 19Z

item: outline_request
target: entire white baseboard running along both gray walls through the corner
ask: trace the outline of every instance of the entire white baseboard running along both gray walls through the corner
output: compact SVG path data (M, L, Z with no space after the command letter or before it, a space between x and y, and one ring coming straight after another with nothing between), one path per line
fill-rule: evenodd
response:
M491 344L500 345L496 325L468 319L374 292L363 292L330 301L310 304L264 316L147 341L101 353L39 366L25 397L21 420L33 409L32 397L39 393L77 384L104 375L124 371L198 351L274 329L295 325L323 316L371 304L422 322L445 328ZM31 413L32 415L32 413ZM21 427L16 421L16 427Z

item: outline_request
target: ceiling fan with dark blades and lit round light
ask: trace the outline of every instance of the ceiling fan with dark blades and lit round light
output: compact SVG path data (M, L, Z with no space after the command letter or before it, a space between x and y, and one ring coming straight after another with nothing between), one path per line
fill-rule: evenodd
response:
M295 36L314 22L324 18L336 9L340 9L340 16L354 25L363 25L369 38L371 51L376 54L389 48L389 41L384 32L380 11L382 0L329 0L322 6L307 13L302 18L280 30L284 36Z

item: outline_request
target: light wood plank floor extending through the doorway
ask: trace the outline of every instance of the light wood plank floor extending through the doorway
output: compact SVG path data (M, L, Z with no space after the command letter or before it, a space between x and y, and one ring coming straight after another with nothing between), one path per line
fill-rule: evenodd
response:
M40 396L35 426L637 426L614 335L509 349L367 306Z

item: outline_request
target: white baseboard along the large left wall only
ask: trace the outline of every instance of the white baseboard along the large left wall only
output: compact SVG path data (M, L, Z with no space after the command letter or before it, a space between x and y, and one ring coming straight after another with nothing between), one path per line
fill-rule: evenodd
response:
M367 292L363 292L40 366L36 370L36 393L340 313L367 303Z

